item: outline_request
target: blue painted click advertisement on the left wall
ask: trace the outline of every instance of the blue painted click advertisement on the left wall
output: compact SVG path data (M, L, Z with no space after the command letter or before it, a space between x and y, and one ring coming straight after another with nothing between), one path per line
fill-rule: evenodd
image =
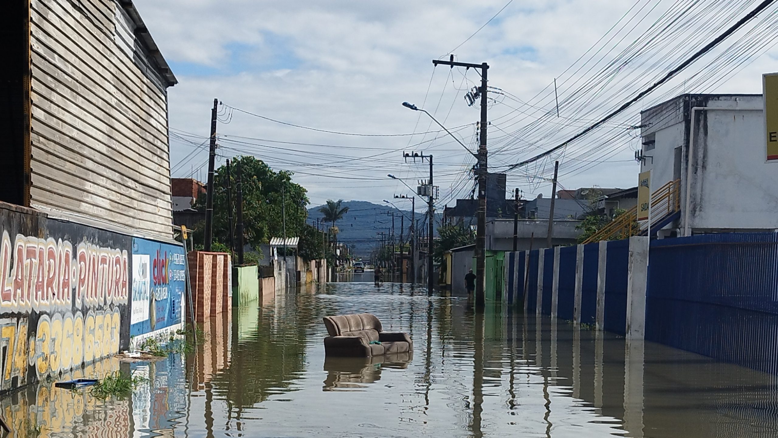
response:
M132 239L130 335L145 335L181 322L186 287L184 248Z

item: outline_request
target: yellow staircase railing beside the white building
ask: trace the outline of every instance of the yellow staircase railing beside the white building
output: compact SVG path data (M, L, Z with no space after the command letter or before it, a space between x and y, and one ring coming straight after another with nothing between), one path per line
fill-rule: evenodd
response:
M651 194L651 222L657 223L681 209L680 187L681 180L670 181ZM587 240L584 240L584 244L591 244L591 242L599 242L600 240L612 240L613 237L626 239L630 236L636 236L641 231L648 229L648 223L649 221L643 224L637 222L636 205L618 215L608 225L598 230L597 233L592 234Z

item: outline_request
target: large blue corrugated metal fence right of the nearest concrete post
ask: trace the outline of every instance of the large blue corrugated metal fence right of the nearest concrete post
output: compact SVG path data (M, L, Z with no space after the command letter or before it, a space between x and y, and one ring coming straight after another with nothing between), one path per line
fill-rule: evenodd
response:
M648 340L778 373L778 235L652 242L646 313Z

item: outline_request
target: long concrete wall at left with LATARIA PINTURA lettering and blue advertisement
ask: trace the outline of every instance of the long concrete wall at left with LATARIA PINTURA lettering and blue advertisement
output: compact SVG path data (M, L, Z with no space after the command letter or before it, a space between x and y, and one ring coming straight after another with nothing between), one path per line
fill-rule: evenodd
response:
M180 328L184 252L0 203L0 393Z

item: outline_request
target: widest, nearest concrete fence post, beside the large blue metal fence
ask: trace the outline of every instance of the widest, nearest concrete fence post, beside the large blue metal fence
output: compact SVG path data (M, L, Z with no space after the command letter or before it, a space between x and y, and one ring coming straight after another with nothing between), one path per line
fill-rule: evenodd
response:
M633 341L643 341L645 337L648 239L643 236L629 238L626 338Z

